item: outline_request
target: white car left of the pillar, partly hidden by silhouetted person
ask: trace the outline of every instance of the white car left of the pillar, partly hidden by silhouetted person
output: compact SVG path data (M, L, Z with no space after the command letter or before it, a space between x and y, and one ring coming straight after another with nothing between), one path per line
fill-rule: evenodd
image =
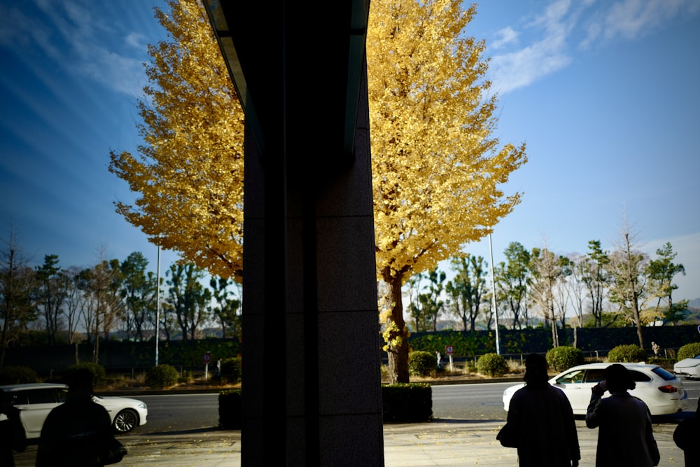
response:
M48 412L66 401L68 386L52 383L12 384L0 386L0 391L20 410L27 439L31 439L41 435L41 427ZM92 400L103 405L109 412L116 433L129 433L135 427L146 424L148 408L141 400L101 396L92 396Z

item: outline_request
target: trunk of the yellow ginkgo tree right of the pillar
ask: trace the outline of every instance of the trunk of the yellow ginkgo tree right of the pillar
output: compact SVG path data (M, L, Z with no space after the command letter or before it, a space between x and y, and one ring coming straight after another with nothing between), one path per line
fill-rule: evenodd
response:
M389 382L407 383L408 375L408 330L403 319L403 302L401 300L401 278L387 281L391 290L391 313L386 322L384 338L389 360Z

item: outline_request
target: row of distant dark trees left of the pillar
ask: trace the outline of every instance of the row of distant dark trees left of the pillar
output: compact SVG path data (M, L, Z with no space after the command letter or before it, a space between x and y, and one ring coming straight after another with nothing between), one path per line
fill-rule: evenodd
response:
M0 323L0 370L8 345L22 338L87 341L97 363L100 340L117 336L143 342L158 329L162 340L195 340L207 326L224 338L239 336L241 289L193 263L174 263L158 278L139 251L118 260L103 249L90 267L62 267L49 254L31 267L13 232L0 251Z

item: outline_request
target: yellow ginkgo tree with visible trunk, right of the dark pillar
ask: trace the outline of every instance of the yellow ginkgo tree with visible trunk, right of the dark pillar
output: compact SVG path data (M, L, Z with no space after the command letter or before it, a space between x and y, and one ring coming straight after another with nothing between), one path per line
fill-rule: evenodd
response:
M499 186L526 162L505 144L484 41L465 33L476 6L461 0L372 0L367 86L377 275L392 382L408 382L401 288L465 243L484 237L520 201Z

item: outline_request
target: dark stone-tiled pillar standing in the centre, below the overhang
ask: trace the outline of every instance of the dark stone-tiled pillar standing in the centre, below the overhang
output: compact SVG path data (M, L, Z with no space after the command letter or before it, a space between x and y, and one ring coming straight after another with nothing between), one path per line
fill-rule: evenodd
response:
M384 465L366 83L353 160L318 113L246 132L244 466Z

